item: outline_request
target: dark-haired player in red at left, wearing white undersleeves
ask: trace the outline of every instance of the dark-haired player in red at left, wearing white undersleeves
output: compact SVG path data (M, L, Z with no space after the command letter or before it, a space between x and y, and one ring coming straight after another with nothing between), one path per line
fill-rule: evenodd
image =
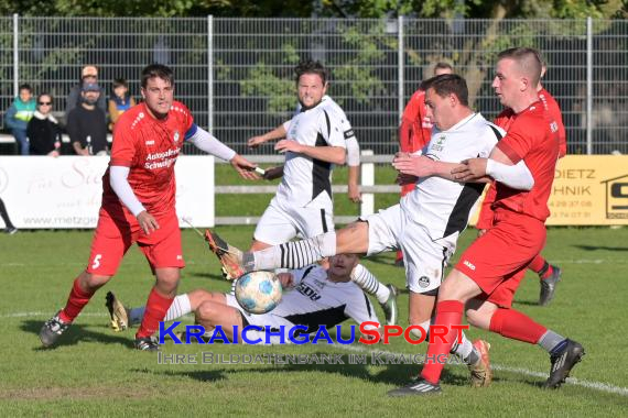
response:
M40 331L44 346L53 345L98 288L118 270L137 242L156 282L147 314L136 334L138 350L159 350L152 339L163 320L184 267L175 211L174 164L184 142L229 161L245 178L256 178L256 166L198 128L187 108L174 101L172 70L159 64L142 72L144 101L116 123L109 167L102 176L102 205L91 241L87 268L74 280L65 308Z

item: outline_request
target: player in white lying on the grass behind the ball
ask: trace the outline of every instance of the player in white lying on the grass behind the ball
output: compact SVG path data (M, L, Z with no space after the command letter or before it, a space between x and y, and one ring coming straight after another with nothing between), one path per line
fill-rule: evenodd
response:
M284 326L284 341L289 342L288 333L295 326L307 328L305 333L316 332L318 327L332 328L346 319L353 319L358 324L365 321L379 323L370 301L362 290L353 282L349 274L358 264L355 254L338 254L329 258L329 268L317 264L281 273L280 279L284 294L280 304L272 311L263 315L252 315L245 311L236 301L232 294L196 289L188 294L178 295L165 320L173 320L190 312L195 312L196 321L206 330L220 326L230 341L234 340L234 326L241 332L243 327L257 326L264 329L279 330ZM109 296L111 295L111 296ZM108 308L112 324L118 329L141 321L142 308L124 309L108 295ZM116 306L118 305L118 309ZM249 340L266 341L264 331L248 331ZM280 340L279 336L269 336L271 343ZM242 341L241 338L238 341Z

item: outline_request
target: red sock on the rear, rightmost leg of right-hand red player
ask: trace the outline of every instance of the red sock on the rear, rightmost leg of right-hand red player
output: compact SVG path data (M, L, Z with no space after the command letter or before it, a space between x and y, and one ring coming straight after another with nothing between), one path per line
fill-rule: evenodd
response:
M534 322L530 317L515 309L497 309L490 318L489 329L506 338L535 344L548 331L545 327Z

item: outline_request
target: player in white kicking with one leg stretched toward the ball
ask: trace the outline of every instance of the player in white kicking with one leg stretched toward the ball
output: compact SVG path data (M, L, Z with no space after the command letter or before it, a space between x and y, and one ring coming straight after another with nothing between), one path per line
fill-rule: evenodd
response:
M427 117L434 128L423 155L398 154L393 161L401 183L416 184L401 204L365 217L337 233L327 232L262 251L242 254L224 244L215 251L224 265L237 265L242 271L297 268L336 253L371 255L400 249L410 290L409 322L427 331L444 268L484 188L484 184L452 182L451 169L464 160L488 156L504 131L468 107L468 89L461 76L436 76L426 80L424 87ZM422 175L422 168L432 170L433 166L438 167L438 175L444 178ZM524 165L523 168L527 170ZM216 235L214 239L224 242ZM488 344L479 341L474 348L464 338L454 346L454 352L469 364L474 385L490 382Z

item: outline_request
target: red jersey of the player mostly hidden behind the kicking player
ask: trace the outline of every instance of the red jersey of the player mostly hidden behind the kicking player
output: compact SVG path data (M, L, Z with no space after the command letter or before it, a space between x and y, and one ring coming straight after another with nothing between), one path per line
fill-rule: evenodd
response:
M399 145L402 152L413 153L427 145L432 136L432 122L425 117L425 91L416 90L405 105L399 127Z

